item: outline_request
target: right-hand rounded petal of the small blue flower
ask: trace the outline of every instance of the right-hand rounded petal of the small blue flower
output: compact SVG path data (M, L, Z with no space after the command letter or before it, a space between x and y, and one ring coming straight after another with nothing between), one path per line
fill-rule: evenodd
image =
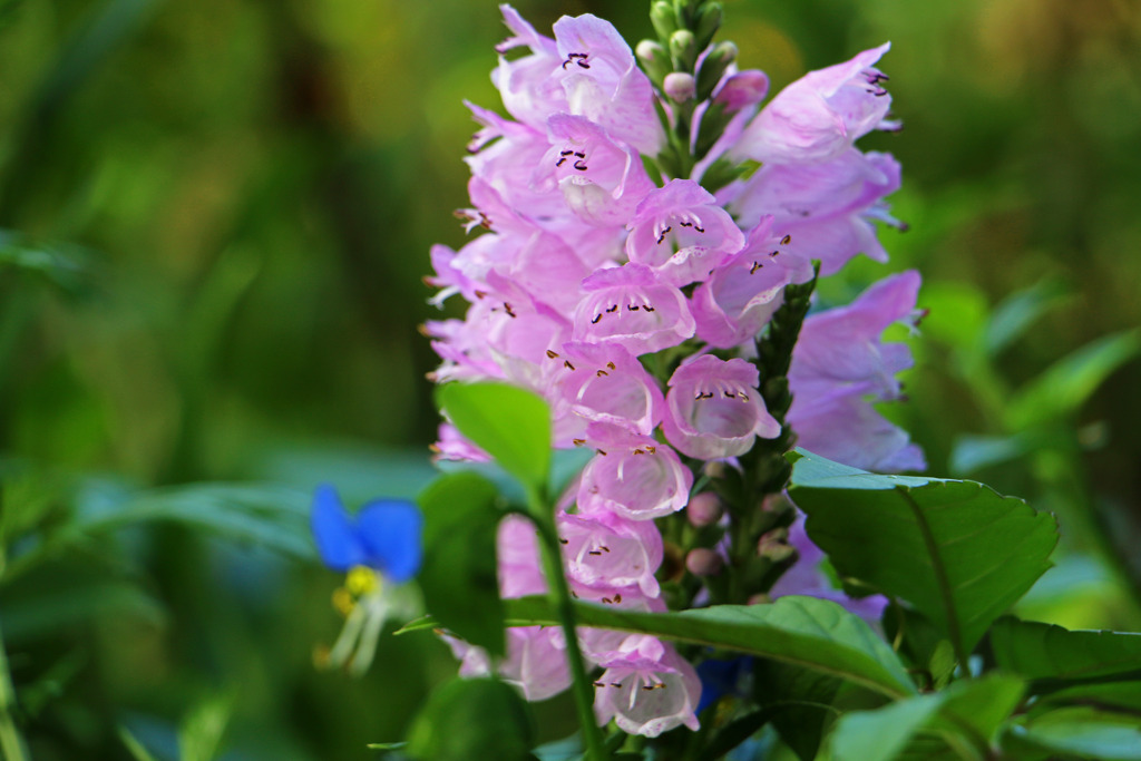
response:
M423 558L420 508L406 500L378 500L361 509L357 525L367 565L397 583L416 575Z

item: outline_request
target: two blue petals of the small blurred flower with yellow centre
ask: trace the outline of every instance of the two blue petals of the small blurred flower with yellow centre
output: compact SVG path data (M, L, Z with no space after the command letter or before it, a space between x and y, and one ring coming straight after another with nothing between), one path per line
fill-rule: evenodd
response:
M420 570L423 516L407 500L377 500L351 516L337 489L323 484L313 497L311 527L321 559L333 570L366 566L397 584Z

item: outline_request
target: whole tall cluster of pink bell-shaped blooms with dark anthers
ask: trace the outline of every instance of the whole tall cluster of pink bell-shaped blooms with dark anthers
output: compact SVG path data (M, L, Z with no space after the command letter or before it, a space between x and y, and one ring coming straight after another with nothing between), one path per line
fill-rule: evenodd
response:
M713 92L733 114L722 138L691 178L659 186L642 156L666 143L661 96L615 29L563 17L551 39L501 9L511 37L492 76L509 118L470 106L480 129L467 160L472 205L460 213L480 234L459 251L431 252L434 301L459 294L470 305L463 319L427 324L443 359L435 377L503 380L548 400L553 445L596 451L557 516L573 592L661 610L655 519L686 508L703 461L731 462L780 432L750 357L785 286L810 280L812 259L831 274L860 252L885 258L873 220L893 221L882 200L898 187L899 167L852 143L893 128L887 78L874 68L887 46L808 74L763 108L764 75L730 66ZM658 106L671 113L669 99ZM761 167L714 195L699 180L722 156ZM851 307L808 319L790 374L790 416L804 446L856 464L922 464L872 407L898 396L895 373L909 356L879 337L909 317L917 284L911 273L889 278ZM647 370L659 353L683 357L669 378ZM482 456L446 423L437 447L445 458ZM499 557L504 597L545 590L528 524L504 521ZM569 685L560 630L508 637L508 658L495 666L528 698ZM672 646L590 630L581 639L605 670L599 721L647 736L697 727L699 682ZM482 651L453 647L463 673L492 667Z

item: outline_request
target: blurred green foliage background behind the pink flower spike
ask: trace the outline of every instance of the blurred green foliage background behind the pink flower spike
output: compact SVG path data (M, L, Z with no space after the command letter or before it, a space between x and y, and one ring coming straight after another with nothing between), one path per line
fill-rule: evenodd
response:
M861 146L901 160L911 230L823 300L923 272L890 414L932 475L1060 516L1026 615L1141 626L1139 5L725 5L722 39L774 90L892 41L905 129ZM631 43L647 6L517 3ZM0 626L33 758L127 759L127 727L205 759L222 724L220 758L370 758L454 672L418 635L362 680L315 670L340 580L227 528L225 500L114 516L221 480L296 526L318 481L359 503L431 476L421 277L434 242L463 242L461 100L499 105L504 37L470 0L0 1Z

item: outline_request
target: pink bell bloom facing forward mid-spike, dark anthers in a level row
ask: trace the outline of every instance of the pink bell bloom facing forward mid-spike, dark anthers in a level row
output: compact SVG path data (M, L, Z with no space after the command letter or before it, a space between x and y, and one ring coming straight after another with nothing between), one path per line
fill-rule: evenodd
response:
M681 291L636 262L599 269L582 282L574 340L617 343L634 356L677 346L696 330Z

